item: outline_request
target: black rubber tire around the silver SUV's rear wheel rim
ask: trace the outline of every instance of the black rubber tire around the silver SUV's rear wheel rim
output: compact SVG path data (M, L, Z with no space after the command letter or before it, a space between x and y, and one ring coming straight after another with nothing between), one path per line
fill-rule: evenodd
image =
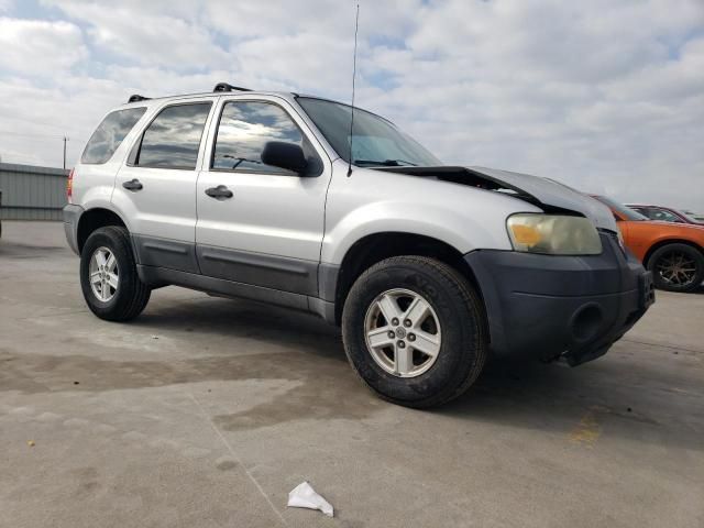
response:
M90 286L90 260L99 248L107 248L118 261L119 283L113 297L103 302ZM127 229L109 226L94 231L80 252L80 287L90 311L108 321L128 321L139 316L152 290L140 280Z

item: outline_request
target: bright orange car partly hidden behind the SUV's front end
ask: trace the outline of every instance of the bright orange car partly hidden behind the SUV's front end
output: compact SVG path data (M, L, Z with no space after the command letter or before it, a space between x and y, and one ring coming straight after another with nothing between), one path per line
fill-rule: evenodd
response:
M704 227L649 220L609 198L594 196L614 212L624 243L652 272L657 287L694 292L704 280Z

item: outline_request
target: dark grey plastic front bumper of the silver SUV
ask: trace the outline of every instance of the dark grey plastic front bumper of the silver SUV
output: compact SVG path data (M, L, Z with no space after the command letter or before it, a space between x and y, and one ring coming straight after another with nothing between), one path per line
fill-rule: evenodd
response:
M479 282L497 355L563 356L571 365L610 348L654 301L649 272L602 232L594 256L479 250L464 258Z

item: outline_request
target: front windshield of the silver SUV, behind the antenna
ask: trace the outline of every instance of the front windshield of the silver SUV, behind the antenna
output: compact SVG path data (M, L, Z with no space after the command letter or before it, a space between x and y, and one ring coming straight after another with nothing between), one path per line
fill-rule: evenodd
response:
M349 163L352 107L311 97L299 97L297 100L338 155ZM365 167L442 165L436 156L392 123L356 107L352 164Z

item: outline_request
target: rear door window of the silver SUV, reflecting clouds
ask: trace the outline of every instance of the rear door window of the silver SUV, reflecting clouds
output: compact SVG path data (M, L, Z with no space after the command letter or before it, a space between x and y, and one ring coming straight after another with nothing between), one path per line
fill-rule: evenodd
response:
M146 128L134 165L161 168L196 168L200 138L210 102L166 107Z

